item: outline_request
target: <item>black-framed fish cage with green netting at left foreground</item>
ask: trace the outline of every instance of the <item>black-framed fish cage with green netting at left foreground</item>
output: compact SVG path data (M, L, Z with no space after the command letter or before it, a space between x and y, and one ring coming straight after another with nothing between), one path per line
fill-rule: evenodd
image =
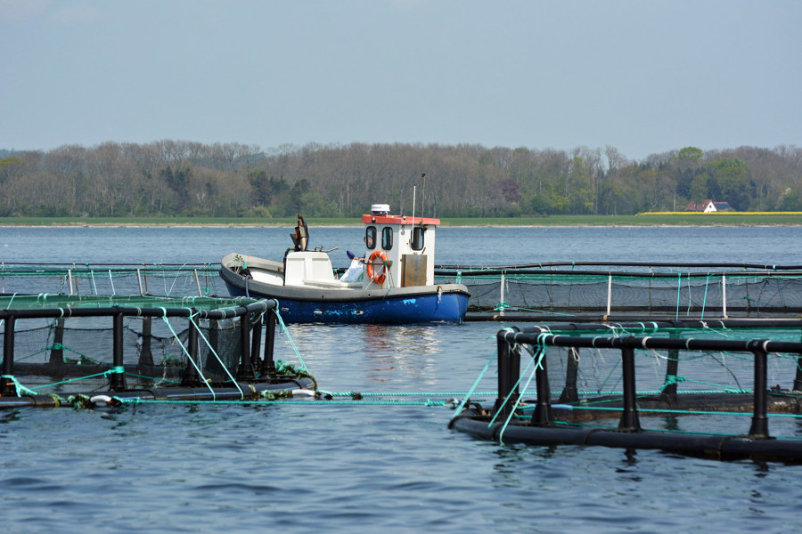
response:
M316 386L302 362L274 360L273 300L13 295L0 308L0 409L265 399Z

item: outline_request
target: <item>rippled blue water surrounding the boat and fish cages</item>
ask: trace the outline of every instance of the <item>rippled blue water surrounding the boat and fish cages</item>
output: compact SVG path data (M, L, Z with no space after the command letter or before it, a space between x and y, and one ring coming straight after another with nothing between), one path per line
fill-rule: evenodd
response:
M280 257L290 229L6 229L4 262ZM802 263L799 228L440 229L438 263ZM359 229L312 229L345 249ZM351 245L353 244L353 245ZM341 254L340 254L341 253ZM467 391L497 324L293 326L331 392ZM282 341L277 357L290 360ZM481 391L495 389L491 376ZM423 395L426 398L426 395ZM420 400L419 398L416 398ZM593 532L798 530L802 466L660 452L501 447L445 407L145 405L0 413L5 531ZM748 430L744 422L743 432ZM80 525L80 527L78 527Z

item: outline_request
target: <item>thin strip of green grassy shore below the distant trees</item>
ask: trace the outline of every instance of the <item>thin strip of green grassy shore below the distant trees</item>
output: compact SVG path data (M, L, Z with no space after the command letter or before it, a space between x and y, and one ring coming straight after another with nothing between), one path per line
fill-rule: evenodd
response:
M0 226L295 226L296 217L0 217ZM358 218L311 217L312 226L361 226ZM802 226L802 212L463 217L443 226Z

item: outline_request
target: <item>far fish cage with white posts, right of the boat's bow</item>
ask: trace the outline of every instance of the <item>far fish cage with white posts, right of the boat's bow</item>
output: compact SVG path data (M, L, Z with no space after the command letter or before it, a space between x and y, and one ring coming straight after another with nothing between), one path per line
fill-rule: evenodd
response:
M537 263L441 265L437 279L471 292L467 320L666 319L802 313L802 265Z

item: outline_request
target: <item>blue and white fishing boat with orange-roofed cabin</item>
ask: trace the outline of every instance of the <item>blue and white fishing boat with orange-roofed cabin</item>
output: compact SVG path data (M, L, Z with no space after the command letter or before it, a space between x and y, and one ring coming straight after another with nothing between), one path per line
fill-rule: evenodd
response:
M471 294L462 284L434 282L439 219L389 214L374 204L362 216L364 255L348 251L351 265L331 266L330 250L308 249L309 231L298 216L294 247L281 261L231 253L220 276L233 296L272 298L287 323L461 323Z

